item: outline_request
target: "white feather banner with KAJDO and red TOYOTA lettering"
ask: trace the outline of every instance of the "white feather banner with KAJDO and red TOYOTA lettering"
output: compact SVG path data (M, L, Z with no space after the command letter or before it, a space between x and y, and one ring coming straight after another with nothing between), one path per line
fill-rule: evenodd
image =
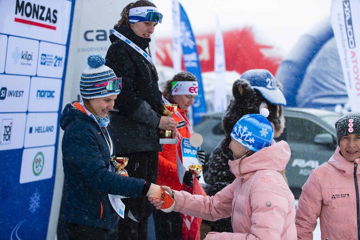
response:
M360 111L360 1L333 0L331 26L339 51L341 67L352 111Z

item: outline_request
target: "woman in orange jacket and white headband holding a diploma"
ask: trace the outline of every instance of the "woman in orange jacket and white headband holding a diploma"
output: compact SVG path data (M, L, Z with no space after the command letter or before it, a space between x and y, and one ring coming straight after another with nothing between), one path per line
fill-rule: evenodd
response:
M177 122L177 130L183 137L177 141L177 144L164 144L163 151L159 152L159 166L158 166L158 185L170 186L171 189L186 190L193 193L194 189L200 191L197 194L205 194L200 186L197 178L194 178L189 171L185 172L183 184L179 181L176 164L176 149L179 154L181 162L183 161L183 153L190 152L184 151L186 149L195 150L190 146L189 139L193 133L192 126L187 117L188 109L194 104L198 92L198 83L196 77L189 72L177 73L172 80L168 80L163 87L163 100L165 103L177 104L177 111L172 115L175 122ZM196 148L196 150L199 150ZM196 151L195 150L195 151ZM194 151L191 151L194 153ZM190 154L191 155L191 154ZM190 156L191 157L191 156ZM192 157L198 158L203 163L203 151L197 151L197 154L192 154ZM156 239L199 239L199 225L201 219L190 218L180 215L180 213L171 213L172 216L154 210L154 222L156 230ZM164 220L166 219L166 220ZM184 219L184 226L183 225ZM183 231L182 231L183 228ZM187 228L187 230L186 230ZM196 229L195 229L196 228ZM186 236L185 236L186 235Z

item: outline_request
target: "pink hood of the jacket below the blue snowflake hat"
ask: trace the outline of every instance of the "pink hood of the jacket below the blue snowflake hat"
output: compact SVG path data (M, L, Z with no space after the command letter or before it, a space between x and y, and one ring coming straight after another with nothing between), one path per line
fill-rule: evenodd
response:
M230 171L239 178L246 181L251 174L258 170L271 169L277 172L283 171L291 156L290 147L285 141L277 142L267 148L258 150L249 157L229 160ZM239 172L239 163L241 161Z

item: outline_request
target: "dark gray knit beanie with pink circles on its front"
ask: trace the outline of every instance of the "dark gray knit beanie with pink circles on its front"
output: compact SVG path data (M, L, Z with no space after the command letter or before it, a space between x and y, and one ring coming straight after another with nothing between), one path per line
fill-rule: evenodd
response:
M348 112L335 123L336 138L338 141L347 134L360 135L360 112Z

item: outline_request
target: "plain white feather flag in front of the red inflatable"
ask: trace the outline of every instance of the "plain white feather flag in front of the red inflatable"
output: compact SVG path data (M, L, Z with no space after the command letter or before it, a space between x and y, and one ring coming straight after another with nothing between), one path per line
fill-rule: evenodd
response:
M226 81L225 81L225 51L224 39L219 23L219 18L216 16L216 30L215 30L215 51L214 51L214 111L223 112L228 105L228 98L226 96Z

